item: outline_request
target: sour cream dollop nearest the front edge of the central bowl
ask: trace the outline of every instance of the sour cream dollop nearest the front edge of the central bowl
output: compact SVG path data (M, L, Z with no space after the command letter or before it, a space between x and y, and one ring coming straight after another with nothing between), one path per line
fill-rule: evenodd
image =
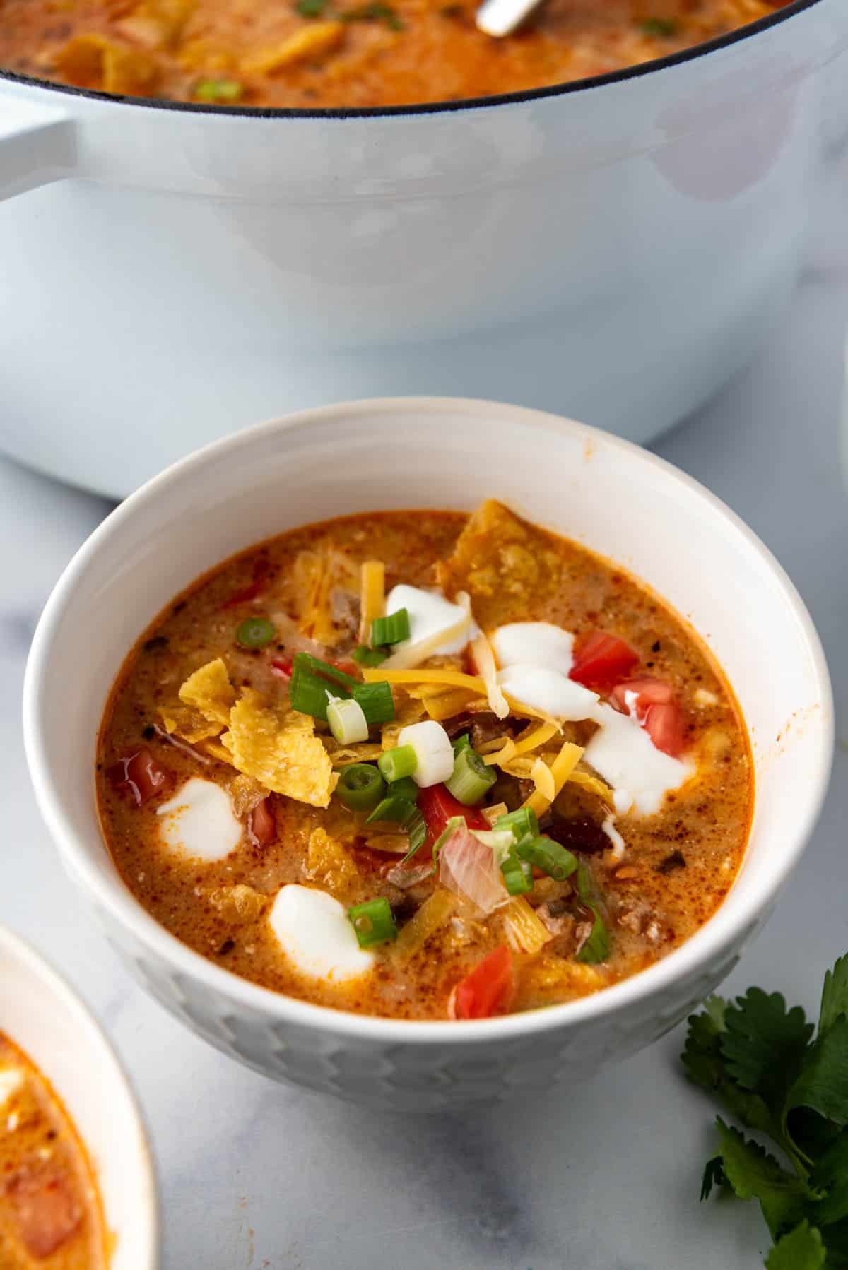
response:
M280 947L300 974L342 983L367 974L374 954L361 949L343 904L324 890L291 883L268 914Z

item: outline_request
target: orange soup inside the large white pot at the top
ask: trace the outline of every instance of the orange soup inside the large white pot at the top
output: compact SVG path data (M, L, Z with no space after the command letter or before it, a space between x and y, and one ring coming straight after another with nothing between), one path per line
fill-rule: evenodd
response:
M474 0L0 0L0 66L224 105L404 105L603 75L782 3L547 0L521 32L492 39Z

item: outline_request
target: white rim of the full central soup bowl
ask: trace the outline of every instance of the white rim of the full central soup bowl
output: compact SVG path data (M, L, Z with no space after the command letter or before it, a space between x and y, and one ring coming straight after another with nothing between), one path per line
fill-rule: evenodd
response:
M353 417L374 418L393 415L398 411L416 410L444 414L486 414L489 422L520 423L529 427L554 431L561 436L578 437L586 446L603 444L627 456L629 461L642 464L661 474L662 480L676 484L687 495L701 502L720 518L728 522L745 540L749 549L759 556L774 582L781 588L783 599L801 631L814 668L816 698L820 709L815 715L815 729L819 733L817 771L807 785L805 804L798 814L797 827L791 845L782 842L783 859L770 880L754 878L745 890L745 902L730 925L722 922L723 904L695 933L667 956L656 961L646 970L612 984L589 997L564 1002L557 1006L531 1010L517 1015L505 1015L497 1019L469 1020L458 1025L451 1020L403 1020L381 1019L371 1015L356 1015L329 1006L313 1005L284 993L275 992L239 978L230 970L212 964L200 952L182 944L174 935L160 926L123 881L107 878L98 870L84 847L78 842L76 832L66 814L53 785L46 756L46 744L39 725L39 688L51 658L55 634L64 616L66 599L72 596L79 578L89 564L95 560L100 544L120 533L126 522L131 522L136 509L156 502L173 486L178 486L187 476L205 466L219 465L222 458L242 447L253 443L275 432L291 433L303 429L309 434L317 425L350 422ZM200 980L211 992L219 993L234 1003L240 1003L267 1016L275 1024L292 1024L311 1031L332 1033L338 1036L355 1036L384 1044L468 1044L509 1040L556 1030L562 1026L578 1026L601 1015L615 1015L627 1010L639 997L650 998L661 993L671 983L683 979L699 966L715 960L728 949L739 945L745 932L756 918L768 909L769 903L779 893L788 874L804 852L810 834L819 818L828 791L830 768L834 754L834 705L828 665L819 634L812 618L787 573L760 541L751 528L721 499L712 494L699 481L667 462L665 458L643 450L623 437L613 436L590 424L578 423L561 415L528 406L509 405L475 398L442 396L399 396L373 398L356 401L341 401L325 406L299 410L276 419L253 424L230 436L193 451L172 464L159 475L151 478L114 508L85 540L72 556L56 583L42 612L33 636L23 695L24 747L29 773L36 791L41 814L51 832L51 837L62 856L66 869L85 890L89 900L100 906L118 927L126 927L145 949L160 956L173 970L184 974L189 980ZM739 879L734 890L739 886ZM727 928L725 928L727 927Z

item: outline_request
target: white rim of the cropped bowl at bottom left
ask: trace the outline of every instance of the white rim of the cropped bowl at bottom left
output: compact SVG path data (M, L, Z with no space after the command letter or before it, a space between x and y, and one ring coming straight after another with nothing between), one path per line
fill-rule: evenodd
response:
M118 1058L112 1041L107 1036L106 1029L83 1001L76 989L71 987L70 982L60 974L52 963L28 940L13 931L11 927L0 923L0 956L4 955L9 955L13 963L18 963L23 968L24 974L31 974L39 979L52 997L61 999L65 1008L74 1017L74 1035L84 1034L88 1043L94 1049L99 1050L100 1062L111 1069L112 1077L121 1090L121 1096L123 1097L123 1101L130 1111L135 1130L136 1140L133 1143L133 1154L137 1162L139 1180L144 1187L141 1194L136 1194L133 1203L139 1209L141 1209L141 1223L146 1234L146 1247L133 1248L133 1253L141 1257L139 1261L139 1270L156 1270L159 1264L160 1238L156 1166L150 1146L150 1133L141 1109L141 1101L135 1091L132 1081ZM0 1030L3 1030L3 1020L0 1020ZM9 1035L9 1039L15 1043L14 1035ZM37 1068L41 1068L37 1055L32 1054L25 1046L23 1052ZM64 1102L64 1091L56 1087L56 1093ZM88 1152L85 1134L81 1132L79 1125L75 1125L75 1128ZM106 1214L106 1218L108 1228L108 1213ZM120 1243L121 1232L118 1232L118 1246Z

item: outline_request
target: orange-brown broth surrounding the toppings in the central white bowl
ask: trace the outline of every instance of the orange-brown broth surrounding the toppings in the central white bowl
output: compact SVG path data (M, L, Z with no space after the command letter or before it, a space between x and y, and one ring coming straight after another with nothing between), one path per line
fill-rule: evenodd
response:
M502 912L481 917L459 903L412 956L402 956L399 946L389 942L375 950L374 973L352 983L301 975L281 952L268 923L281 886L318 886L345 906L385 897L403 936L437 881L427 876L407 885L397 872L400 856L379 850L375 829L336 795L323 809L272 794L266 804L273 817L272 841L252 842L242 789L245 777L236 777L222 761L228 752L220 738L198 740L187 749L179 733L168 738L164 732L163 711L179 709L183 681L217 657L236 692L253 688L266 705L285 709L289 681L273 663L286 665L317 622L323 624L323 643L309 644L311 650L355 669L350 654L359 641L360 566L370 559L384 561L386 592L399 582L417 587L439 582L449 596L464 588L487 631L505 622L544 620L575 631L577 648L581 636L598 629L623 638L638 655L633 676L670 685L683 710L683 744L697 758L697 779L669 794L659 814L617 818L626 842L623 857L615 857L600 828L609 809L595 790L567 782L553 809L543 814L543 832L558 836L589 870L610 951L594 964L577 958L591 914L578 900L575 879L537 876L526 903L544 916L551 930L544 946L533 954L514 947L514 992L503 1008L568 1001L651 965L697 931L727 894L749 831L751 766L732 692L704 646L653 593L585 547L521 522L497 504L484 504L460 537L467 526L468 518L454 512L386 512L285 533L201 578L151 624L128 655L99 739L103 833L140 903L216 965L322 1005L440 1019L449 1012L456 983L487 952L510 945ZM314 582L309 570L315 561L325 570L328 607L320 612L304 597L304 578ZM239 622L253 615L275 622L277 634L268 648L245 650L235 644ZM468 668L468 658L441 657L428 664L462 669ZM399 714L422 710L402 687L393 691ZM507 723L515 734L526 720ZM503 733L484 701L472 701L444 725L455 734L470 729L473 742L481 744ZM564 724L545 759L566 738L585 743L594 728L592 723ZM317 724L317 732L332 749L327 725ZM379 740L379 729L371 735ZM122 762L140 751L150 756L163 781L136 805L122 780ZM175 857L160 837L156 808L192 776L230 790L242 815L239 845L217 862ZM531 782L501 773L486 803L502 800L515 808L531 790ZM259 786L253 803L262 794ZM426 862L427 852L428 847L418 852L412 866Z

